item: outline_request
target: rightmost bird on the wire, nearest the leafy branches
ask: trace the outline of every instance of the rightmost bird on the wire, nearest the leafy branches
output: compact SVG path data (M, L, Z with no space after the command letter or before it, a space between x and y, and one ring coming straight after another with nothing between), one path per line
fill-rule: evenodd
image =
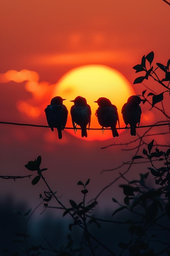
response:
M144 101L138 95L132 95L128 98L127 102L121 109L121 113L124 119L124 122L127 125L130 125L130 135L136 136L136 125L140 124L141 120L141 107L140 103Z

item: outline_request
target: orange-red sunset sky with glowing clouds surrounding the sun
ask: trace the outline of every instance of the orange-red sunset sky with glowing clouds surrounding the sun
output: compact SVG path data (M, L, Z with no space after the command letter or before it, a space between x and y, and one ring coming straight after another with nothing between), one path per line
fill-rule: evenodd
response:
M0 0L0 121L47 125L44 108L58 81L84 65L117 70L135 94L141 94L146 88L133 85L137 74L132 67L151 51L155 63L166 64L170 58L169 13L170 7L162 0ZM141 108L141 125L159 121L154 110L149 112L150 106ZM90 132L103 136L101 131ZM88 178L89 199L95 197L120 170L101 171L133 157L132 151L122 151L121 146L101 149L131 141L126 131L117 139L88 141L64 130L60 141L47 128L0 124L0 137L1 175L30 174L24 165L41 155L42 168L49 168L46 179L65 202L78 200L76 184ZM162 143L166 141L161 138ZM36 186L29 179L0 181L1 195L12 193L15 200L31 205L38 204L39 193L45 189L41 181ZM116 187L108 193L114 196ZM108 194L101 197L108 207Z

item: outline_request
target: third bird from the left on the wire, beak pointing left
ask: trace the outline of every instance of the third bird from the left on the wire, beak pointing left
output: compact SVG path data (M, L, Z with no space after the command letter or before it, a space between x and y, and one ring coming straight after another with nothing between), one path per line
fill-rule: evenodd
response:
M117 107L105 97L100 97L97 101L94 102L96 102L99 106L95 112L95 115L97 116L99 124L102 126L102 130L104 130L104 127L110 127L113 137L119 137L119 133L116 129L117 122L119 124Z

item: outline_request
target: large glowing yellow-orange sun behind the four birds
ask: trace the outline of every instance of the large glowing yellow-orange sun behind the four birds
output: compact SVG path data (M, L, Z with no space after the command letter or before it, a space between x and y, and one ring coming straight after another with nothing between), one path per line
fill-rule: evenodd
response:
M117 70L106 65L84 65L74 68L62 76L62 78L56 83L51 97L61 96L63 99L67 99L63 102L68 108L68 120L66 127L73 127L70 115L70 108L73 105L73 102L70 101L75 99L77 96L85 97L92 110L90 128L101 128L95 116L95 111L98 108L98 105L94 101L97 101L99 97L106 97L110 99L112 104L117 106L120 126L125 127L121 115L121 108L127 101L128 97L133 94L135 94L135 92L132 86ZM79 126L77 127L79 128ZM65 129L64 132L65 131L75 137L90 141L113 138L110 130L105 130L104 134L101 130L89 130L87 138L81 137L80 130L77 130L76 134L74 133L74 130L71 129ZM122 131L123 130L118 130L119 134Z

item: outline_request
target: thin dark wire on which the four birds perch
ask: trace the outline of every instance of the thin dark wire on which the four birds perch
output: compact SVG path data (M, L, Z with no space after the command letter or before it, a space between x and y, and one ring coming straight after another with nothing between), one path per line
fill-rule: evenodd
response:
M20 126L33 126L33 127L43 127L43 128L50 128L49 126L44 126L44 125L37 125L37 124L20 124L20 123L11 123L11 122L2 122L0 121L0 124L12 124L12 125L20 125ZM165 126L168 125L170 126L170 123L166 124L153 124L153 125L146 125L146 126L137 126L136 128L147 128L147 127L155 127L155 126ZM128 127L129 128L129 127ZM74 129L73 127L65 127L64 129ZM77 130L81 130L81 128L77 128ZM102 128L89 128L89 130L101 130ZM126 127L120 127L116 128L117 130L126 130ZM110 128L104 128L104 130L110 130Z

